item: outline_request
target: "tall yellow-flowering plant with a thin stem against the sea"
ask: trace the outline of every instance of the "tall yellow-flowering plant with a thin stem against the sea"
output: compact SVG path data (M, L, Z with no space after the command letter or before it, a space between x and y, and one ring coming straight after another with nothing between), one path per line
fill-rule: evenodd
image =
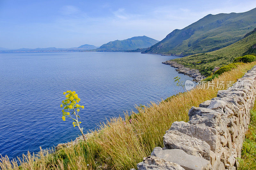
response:
M80 132L82 133L83 137L84 137L84 141L85 141L85 136L83 133L83 128L80 127L81 122L78 122L78 118L80 119L80 116L78 115L80 108L84 108L84 106L81 106L77 103L79 103L80 99L78 98L76 92L71 92L71 90L67 91L67 92L63 92L63 95L66 95L66 99L62 100L62 104L60 105L60 107L63 107L62 110L62 120L65 121L66 120L66 116L70 117L71 119L73 119L73 126L74 127L78 127L78 129L80 130Z

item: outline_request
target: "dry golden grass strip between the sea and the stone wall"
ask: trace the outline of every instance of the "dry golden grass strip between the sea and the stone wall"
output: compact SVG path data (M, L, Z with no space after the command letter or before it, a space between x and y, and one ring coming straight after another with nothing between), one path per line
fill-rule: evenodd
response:
M236 69L223 73L214 82L236 82L256 62L242 64ZM207 86L206 86L207 87ZM225 87L226 88L226 87ZM189 92L172 96L168 101L151 103L144 108L138 107L139 115L129 123L128 114L110 119L101 124L100 132L94 132L86 143L62 148L51 153L41 151L34 156L28 153L21 160L10 161L7 157L0 159L1 169L130 169L150 155L157 147L163 147L163 136L172 122L188 121L188 110L198 107L205 100L216 97L217 84L214 88L193 89ZM124 122L126 124L124 124ZM17 163L18 162L18 163ZM20 165L20 166L18 166ZM87 166L88 165L88 166Z

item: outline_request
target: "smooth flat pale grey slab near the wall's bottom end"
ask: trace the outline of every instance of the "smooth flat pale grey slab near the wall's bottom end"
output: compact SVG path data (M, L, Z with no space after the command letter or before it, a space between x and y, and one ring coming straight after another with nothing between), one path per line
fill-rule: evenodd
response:
M156 147L151 156L156 156L165 161L179 164L186 170L208 170L212 169L210 162L206 159L189 155L181 149L165 149Z

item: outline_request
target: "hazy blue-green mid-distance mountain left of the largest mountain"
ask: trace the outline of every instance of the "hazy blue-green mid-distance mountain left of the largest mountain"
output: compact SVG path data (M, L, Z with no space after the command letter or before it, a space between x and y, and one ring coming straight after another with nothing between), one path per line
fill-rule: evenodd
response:
M148 48L153 44L156 44L157 40L149 38L147 36L138 36L128 38L126 40L110 41L107 44L103 44L100 48L95 51L126 51L135 50L137 48Z

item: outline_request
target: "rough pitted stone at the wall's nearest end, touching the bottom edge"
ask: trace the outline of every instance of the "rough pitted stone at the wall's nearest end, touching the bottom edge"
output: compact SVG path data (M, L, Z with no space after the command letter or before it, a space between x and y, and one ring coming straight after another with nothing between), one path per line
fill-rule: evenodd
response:
M138 170L184 170L180 165L164 159L149 156L137 164Z

